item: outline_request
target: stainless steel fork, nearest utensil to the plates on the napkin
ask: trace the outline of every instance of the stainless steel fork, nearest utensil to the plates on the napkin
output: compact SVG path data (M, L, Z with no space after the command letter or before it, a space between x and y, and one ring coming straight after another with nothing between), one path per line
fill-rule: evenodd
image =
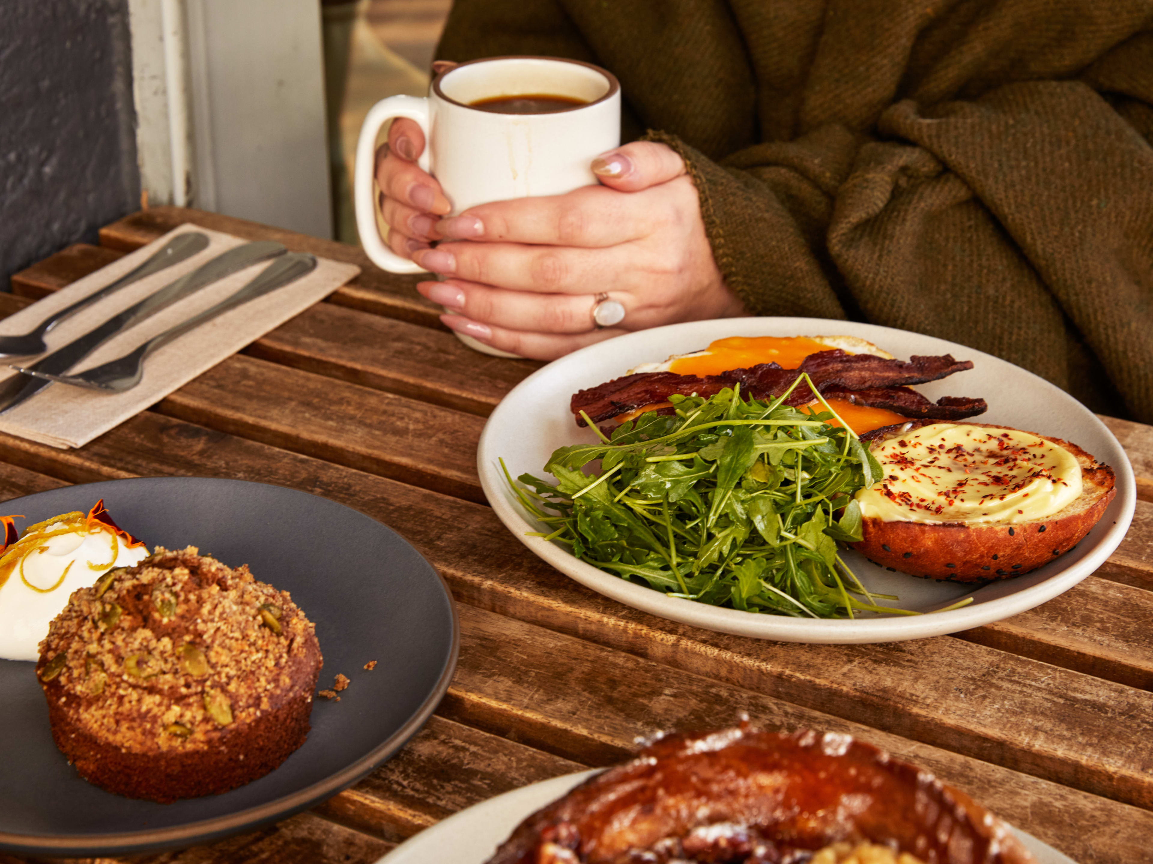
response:
M281 256L232 296L226 297L214 306L205 309L199 314L193 316L187 321L182 321L175 327L171 327L164 333L152 336L152 339L137 346L122 357L116 357L116 359L108 361L77 374L50 374L35 369L21 369L20 371L48 381L70 384L75 387L86 387L106 393L122 393L141 382L141 377L144 372L144 358L160 346L167 344L178 336L182 336L188 331L195 329L205 321L210 321L231 309L262 297L270 291L274 291L277 288L281 288L300 279L315 268L316 258L307 252L293 252ZM13 366L13 369L16 369L16 366Z

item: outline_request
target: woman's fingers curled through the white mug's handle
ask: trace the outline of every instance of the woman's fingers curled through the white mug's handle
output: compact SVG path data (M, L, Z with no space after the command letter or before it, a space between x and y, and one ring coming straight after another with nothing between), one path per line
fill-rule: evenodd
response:
M416 167L424 150L421 127L405 118L392 121L389 143L376 151L376 182L380 187L380 215L389 226L387 244L402 258L429 248L434 227L452 205L440 184Z

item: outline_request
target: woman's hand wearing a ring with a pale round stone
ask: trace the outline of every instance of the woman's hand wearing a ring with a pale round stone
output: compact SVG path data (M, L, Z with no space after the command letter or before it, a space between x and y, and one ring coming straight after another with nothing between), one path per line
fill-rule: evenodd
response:
M669 146L636 142L593 162L602 185L483 204L443 219L422 267L449 278L417 290L474 339L535 359L662 324L744 313L704 234L696 189ZM423 227L423 222L420 222ZM598 294L619 325L597 329Z

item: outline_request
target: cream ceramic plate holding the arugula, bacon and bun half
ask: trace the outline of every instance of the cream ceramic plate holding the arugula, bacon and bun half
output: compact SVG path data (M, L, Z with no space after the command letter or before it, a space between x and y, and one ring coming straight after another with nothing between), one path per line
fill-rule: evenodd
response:
M900 359L914 354L952 354L958 359L971 359L973 369L967 372L919 385L918 389L932 400L944 395L984 397L989 410L977 418L982 423L1041 432L1080 445L1116 472L1117 495L1105 518L1076 550L1033 573L977 590L888 573L854 552L845 553L845 562L871 591L900 598L892 602L895 606L932 612L963 597L973 598L972 604L960 609L917 616L869 614L856 620L827 621L718 608L626 582L576 560L560 544L526 536L540 530L540 525L534 524L508 488L498 460L504 458L513 477L525 472L547 477L543 465L557 447L596 440L590 430L578 429L568 412L573 393L619 378L641 363L703 348L715 339L763 335L852 335L875 342ZM526 378L497 406L481 435L477 467L484 494L508 530L582 585L672 621L781 642L915 639L1016 615L1068 591L1100 567L1125 536L1137 500L1133 472L1117 439L1087 408L1048 381L956 342L891 327L816 318L729 318L675 324L631 333L562 357Z

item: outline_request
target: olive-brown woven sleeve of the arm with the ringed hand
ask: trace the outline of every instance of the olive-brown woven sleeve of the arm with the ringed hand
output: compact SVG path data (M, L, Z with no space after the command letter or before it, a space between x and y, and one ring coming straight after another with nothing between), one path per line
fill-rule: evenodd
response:
M1148 423L1153 36L1118 51L1083 81L903 99L867 132L829 123L719 161L649 137L685 158L753 313L963 342Z

